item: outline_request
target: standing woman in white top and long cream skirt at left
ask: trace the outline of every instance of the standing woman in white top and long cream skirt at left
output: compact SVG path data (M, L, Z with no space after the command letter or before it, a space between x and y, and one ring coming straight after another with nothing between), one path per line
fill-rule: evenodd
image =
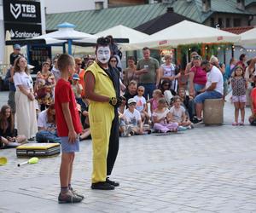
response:
M33 82L27 69L26 58L18 57L14 70L17 130L19 135L26 135L27 139L31 139L38 131L38 124Z

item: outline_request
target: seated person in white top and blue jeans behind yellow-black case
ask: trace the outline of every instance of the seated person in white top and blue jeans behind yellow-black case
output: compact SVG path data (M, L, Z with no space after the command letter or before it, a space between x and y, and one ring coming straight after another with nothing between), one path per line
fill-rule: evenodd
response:
M48 109L38 114L38 133L36 139L39 143L57 142L61 143L55 125L55 104L49 105Z

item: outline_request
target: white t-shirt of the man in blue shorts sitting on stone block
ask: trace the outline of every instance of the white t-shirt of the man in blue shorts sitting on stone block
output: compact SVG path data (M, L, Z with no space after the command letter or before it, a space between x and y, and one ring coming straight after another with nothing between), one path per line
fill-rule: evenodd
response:
M212 70L210 72L207 72L207 85L206 88L208 88L212 83L216 83L215 91L219 92L223 95L223 75L220 72L220 70L216 66L212 66Z

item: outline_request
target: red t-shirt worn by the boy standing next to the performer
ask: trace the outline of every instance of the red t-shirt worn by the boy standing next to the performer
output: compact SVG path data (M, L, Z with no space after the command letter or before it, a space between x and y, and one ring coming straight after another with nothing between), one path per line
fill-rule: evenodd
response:
M57 82L55 87L55 117L57 124L57 132L61 137L68 136L67 123L62 112L61 103L69 103L69 110L73 122L73 128L77 134L82 132L82 125L79 118L77 103L71 88L71 84L63 78Z

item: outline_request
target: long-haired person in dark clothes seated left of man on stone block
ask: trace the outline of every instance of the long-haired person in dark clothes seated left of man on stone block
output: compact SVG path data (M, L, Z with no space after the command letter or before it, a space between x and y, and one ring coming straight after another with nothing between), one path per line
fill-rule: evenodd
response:
M186 95L186 91L183 88L177 89L177 95L181 98L183 107L186 108L189 114L189 119L192 120L195 115L195 103L192 96Z

